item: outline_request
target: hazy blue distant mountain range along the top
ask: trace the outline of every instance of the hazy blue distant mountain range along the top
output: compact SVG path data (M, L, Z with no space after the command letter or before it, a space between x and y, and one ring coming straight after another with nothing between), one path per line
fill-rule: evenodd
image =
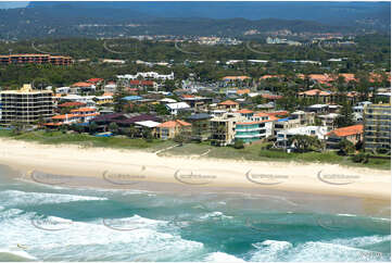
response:
M390 10L390 2L30 2L0 9L0 38L389 34Z

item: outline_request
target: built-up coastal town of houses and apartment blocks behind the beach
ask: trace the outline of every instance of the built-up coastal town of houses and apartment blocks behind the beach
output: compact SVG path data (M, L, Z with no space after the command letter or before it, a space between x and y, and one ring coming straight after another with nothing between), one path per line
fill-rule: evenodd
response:
M8 61L5 62L5 58ZM69 65L67 57L15 54L2 63ZM140 63L140 62L139 62ZM112 79L94 76L68 87L0 91L2 129L61 130L96 137L173 140L242 149L261 145L275 152L334 151L366 163L391 150L391 74L370 73L371 90L357 92L357 75L290 74L224 76L213 83L195 74L137 72ZM271 88L295 79L304 84L287 98ZM174 86L170 88L168 84ZM290 109L284 102L300 101ZM289 104L289 103L288 103Z

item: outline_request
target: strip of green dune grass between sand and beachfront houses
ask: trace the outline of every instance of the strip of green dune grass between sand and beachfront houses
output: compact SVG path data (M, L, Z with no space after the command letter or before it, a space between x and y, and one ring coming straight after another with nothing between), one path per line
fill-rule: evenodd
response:
M125 137L96 137L86 134L63 134L62 132L28 132L22 135L13 135L10 130L0 130L0 137L12 138L24 141L35 141L45 145L78 145L84 147L109 147L116 149L143 149L155 152L176 145L172 140L154 139L150 142L143 139L129 139ZM232 147L213 147L210 142L185 143L163 151L160 155L201 155L201 158L235 159L249 161L276 161L276 162L304 162L304 163L336 163L356 167L370 167L379 170L391 170L391 160L369 159L366 164L354 163L349 156L340 156L336 152L306 152L286 153L275 150L261 150L263 145L256 143L243 149Z

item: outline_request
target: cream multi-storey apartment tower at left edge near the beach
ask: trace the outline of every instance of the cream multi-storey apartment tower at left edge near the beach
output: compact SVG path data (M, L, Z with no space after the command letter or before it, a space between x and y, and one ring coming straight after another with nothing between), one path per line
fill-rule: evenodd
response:
M20 90L0 92L1 125L13 122L35 124L40 118L53 115L53 93L51 90L34 90L25 84Z

